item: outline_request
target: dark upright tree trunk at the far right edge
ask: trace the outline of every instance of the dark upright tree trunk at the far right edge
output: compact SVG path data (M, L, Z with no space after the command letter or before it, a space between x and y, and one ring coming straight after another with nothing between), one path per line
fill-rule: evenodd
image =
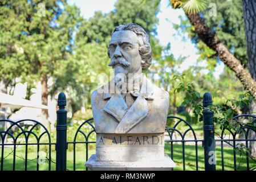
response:
M248 69L256 80L256 0L243 0L243 19L245 21L245 34L247 44ZM250 114L256 113L255 100L251 100ZM251 139L256 138L255 132L251 131ZM250 142L251 155L256 157L256 142Z

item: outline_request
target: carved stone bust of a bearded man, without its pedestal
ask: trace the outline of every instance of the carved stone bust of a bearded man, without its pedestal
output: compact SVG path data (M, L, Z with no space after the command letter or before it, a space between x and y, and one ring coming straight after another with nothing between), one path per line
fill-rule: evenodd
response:
M164 133L169 93L142 73L152 61L147 32L135 23L117 26L108 56L114 78L91 97L96 133Z

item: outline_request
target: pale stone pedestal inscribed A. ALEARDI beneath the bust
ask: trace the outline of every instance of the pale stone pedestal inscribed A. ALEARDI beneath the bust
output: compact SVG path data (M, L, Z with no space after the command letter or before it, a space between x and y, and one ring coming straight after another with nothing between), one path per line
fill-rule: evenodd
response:
M164 133L96 134L91 170L170 170L175 163L164 154Z

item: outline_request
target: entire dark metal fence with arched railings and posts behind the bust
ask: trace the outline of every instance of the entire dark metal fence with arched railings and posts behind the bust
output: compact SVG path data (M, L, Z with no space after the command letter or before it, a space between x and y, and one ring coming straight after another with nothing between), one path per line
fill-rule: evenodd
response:
M172 119L173 121L177 120L177 122L175 122L175 125L173 127L167 127L166 126L166 133L168 133L168 139L165 139L165 144L170 144L170 158L172 158L172 160L174 160L174 148L176 147L174 145L174 143L180 142L182 145L182 149L181 149L181 154L182 154L182 167L183 170L186 170L186 163L185 163L185 146L186 146L186 142L192 142L194 143L194 155L195 155L195 159L194 162L196 162L196 170L198 171L198 146L200 146L200 144L202 145L202 147L204 147L204 162L205 162L205 171L215 171L216 170L216 154L215 154L215 150L216 150L216 142L220 142L221 143L221 164L222 164L222 170L225 169L225 163L224 163L224 143L230 144L231 147L233 147L233 156L234 156L234 170L237 170L237 163L236 163L236 144L237 142L245 142L245 146L248 147L249 144L248 142L254 142L256 141L256 139L249 139L249 132L255 132L256 131L251 128L251 127L242 127L242 129L244 129L245 132L245 138L244 139L237 139L237 133L232 133L232 131L228 130L228 129L223 129L222 133L221 133L221 137L220 139L215 139L214 138L214 125L213 125L213 111L209 110L209 105L212 105L212 97L210 96L209 93L205 93L204 97L203 97L203 105L204 105L204 111L202 111L203 114L203 119L204 119L204 125L203 125L203 131L204 131L204 138L202 139L198 139L196 136L196 133L194 131L194 129L192 128L192 126L186 122L184 119L178 118L178 117L174 117L174 116L168 116L167 119ZM60 93L59 97L58 97L58 106L59 106L59 110L56 112L57 113L57 124L56 124L56 143L52 143L51 142L51 136L50 133L48 132L48 130L46 129L45 126L42 125L42 123L32 120L32 119L23 119L17 122L11 121L9 119L2 119L0 120L0 122L9 122L10 126L6 129L6 131L0 131L0 137L1 137L1 171L3 171L3 165L4 165L4 151L5 151L5 146L13 146L13 170L15 171L15 163L16 163L16 150L17 150L17 146L25 146L25 158L24 160L24 170L27 171L27 161L29 160L27 157L28 154L28 146L36 146L36 151L39 153L40 151L40 146L44 145L44 146L48 146L48 170L51 170L51 164L52 163L56 163L56 171L66 171L67 170L67 149L68 146L72 145L73 146L73 170L76 170L76 144L85 144L86 145L86 160L84 161L84 164L86 163L86 161L88 160L88 144L91 143L96 143L96 141L89 141L89 137L91 136L91 134L95 133L95 127L94 125L92 125L91 121L93 120L93 118L88 119L86 121L84 121L78 128L78 130L76 130L75 133L75 137L74 140L72 142L67 142L67 110L65 110L65 106L66 106L66 96L64 95L64 93ZM256 116L254 115L238 115L236 117L234 117L233 119L235 121L237 121L238 118L241 117L250 117L253 118L254 120L252 121L253 123L256 121ZM24 122L32 122L34 123L33 125L30 125L29 128L23 129L23 127L21 126L22 123ZM188 127L188 129L184 132L181 132L180 130L178 130L178 126L179 125L186 125ZM84 133L82 131L82 127L85 125L90 125L92 127L92 130L88 133ZM14 126L16 126L19 130L21 130L20 133L14 135L14 132L11 130ZM40 131L42 134L36 134L38 132L38 127L41 127ZM37 129L37 130L36 130ZM36 130L34 132L34 130ZM224 133L225 130L229 131L229 133L231 134L231 136L233 137L233 139L226 139L224 137ZM16 132L17 133L17 132ZM188 133L192 133L192 139L186 139L186 135ZM82 141L77 141L78 140L78 134L82 134L82 136L84 137L84 139ZM174 137L174 135L178 135L178 137ZM12 140L13 143L5 143L5 138L9 136ZM21 138L21 136L23 136L23 140L25 143L19 143L17 142L19 138ZM34 136L36 139L36 143L29 142L29 137L30 136ZM42 139L43 136L46 136L46 138L48 139L48 142L42 142L40 143L40 139ZM231 143L230 143L231 142ZM52 154L51 154L51 148L52 145L55 145L55 150L56 150L56 162L52 161ZM37 154L38 154L37 153ZM249 160L249 152L246 151L246 169L249 170L250 169L250 160ZM36 157L37 160L39 160L39 154ZM39 162L36 163L36 170L39 170ZM88 168L84 167L86 170L88 170Z

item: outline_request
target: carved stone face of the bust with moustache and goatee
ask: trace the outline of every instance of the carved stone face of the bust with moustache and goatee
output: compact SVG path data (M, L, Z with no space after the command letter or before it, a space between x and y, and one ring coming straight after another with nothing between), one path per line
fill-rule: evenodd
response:
M109 43L109 57L115 76L118 73L141 73L141 56L137 35L132 31L114 32Z

